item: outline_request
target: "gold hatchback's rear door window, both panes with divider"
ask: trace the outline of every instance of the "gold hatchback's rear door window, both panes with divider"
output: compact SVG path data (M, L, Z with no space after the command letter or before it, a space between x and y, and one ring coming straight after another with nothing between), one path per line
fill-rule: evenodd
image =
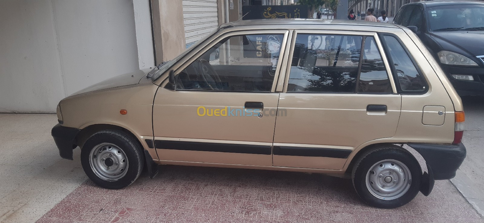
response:
M287 92L358 93L392 91L373 37L298 34ZM360 58L363 56L363 58ZM360 59L362 61L360 65Z

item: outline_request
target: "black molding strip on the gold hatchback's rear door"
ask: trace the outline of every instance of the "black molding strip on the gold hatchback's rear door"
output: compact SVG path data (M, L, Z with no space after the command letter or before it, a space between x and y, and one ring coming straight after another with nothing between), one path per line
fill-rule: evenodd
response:
M274 155L296 155L296 156L319 156L331 158L348 158L352 150L332 149L332 148L313 148L313 147L294 147L294 146L274 146Z

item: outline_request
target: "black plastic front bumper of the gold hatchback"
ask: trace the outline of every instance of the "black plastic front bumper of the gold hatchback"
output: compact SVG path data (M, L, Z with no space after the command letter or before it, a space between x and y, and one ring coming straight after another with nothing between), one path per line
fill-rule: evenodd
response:
M62 158L73 160L72 150L77 147L74 143L79 131L81 130L65 127L61 124L57 124L52 128L51 134L59 149L59 155L61 155Z

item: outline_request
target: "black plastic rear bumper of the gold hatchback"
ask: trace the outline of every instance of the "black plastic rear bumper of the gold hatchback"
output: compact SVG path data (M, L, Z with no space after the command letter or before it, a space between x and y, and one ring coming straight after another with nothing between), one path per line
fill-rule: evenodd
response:
M466 158L466 147L458 145L436 145L425 143L407 143L419 152L427 167L430 167L434 180L448 180L455 177L455 171Z

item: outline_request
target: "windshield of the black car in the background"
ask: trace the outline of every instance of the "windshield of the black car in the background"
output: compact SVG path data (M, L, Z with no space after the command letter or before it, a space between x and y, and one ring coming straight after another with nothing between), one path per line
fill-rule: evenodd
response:
M445 5L427 8L433 31L484 27L484 5Z

